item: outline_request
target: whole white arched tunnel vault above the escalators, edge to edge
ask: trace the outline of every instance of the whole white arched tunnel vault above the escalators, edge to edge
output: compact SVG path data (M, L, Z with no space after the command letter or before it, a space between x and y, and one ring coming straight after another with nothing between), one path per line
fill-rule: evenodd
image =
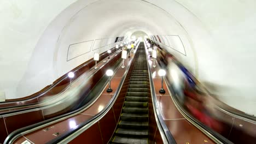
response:
M0 91L7 98L24 97L84 62L85 56L63 61L71 43L143 31L179 35L188 55L170 52L225 103L256 113L251 109L256 104L254 5L232 0L1 1L0 65L7 76L0 78Z

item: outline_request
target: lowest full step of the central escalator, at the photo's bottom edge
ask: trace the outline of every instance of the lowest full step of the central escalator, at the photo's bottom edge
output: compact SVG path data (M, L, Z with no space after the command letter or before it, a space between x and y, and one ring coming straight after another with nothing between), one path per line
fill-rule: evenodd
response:
M115 136L112 143L148 143L148 138Z

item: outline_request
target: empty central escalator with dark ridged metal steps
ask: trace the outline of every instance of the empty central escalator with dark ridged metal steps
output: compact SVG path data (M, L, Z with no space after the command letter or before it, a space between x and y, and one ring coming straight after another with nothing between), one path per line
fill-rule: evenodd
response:
M139 47L121 116L111 143L148 143L149 87L147 57L144 47Z

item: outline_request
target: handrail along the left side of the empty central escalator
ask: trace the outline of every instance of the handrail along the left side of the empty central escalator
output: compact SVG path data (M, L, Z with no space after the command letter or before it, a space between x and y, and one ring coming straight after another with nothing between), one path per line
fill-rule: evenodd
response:
M137 45L138 47L138 45ZM136 48L137 49L137 48ZM136 53L135 53L136 55ZM56 137L55 139L47 142L47 144L52 144L52 143L58 143L58 142L61 142L61 143L68 143L69 141L73 140L76 136L80 135L81 133L83 133L83 131L85 131L86 129L90 128L92 125L94 125L96 122L100 121L100 119L102 117L104 117L107 112L111 109L111 107L114 105L114 102L115 100L117 100L117 97L120 93L120 90L121 90L121 87L123 86L124 84L124 81L125 81L125 77L127 76L127 73L130 69L130 66L131 66L131 63L133 62L133 58L135 56L133 56L131 58L131 61L130 61L130 65L127 67L127 69L125 70L125 73L124 73L124 76L123 78L121 79L118 87L117 87L117 90L115 91L113 97L109 100L109 103L108 105L102 110L100 111L99 113L97 113L94 117L92 117L91 119L89 119L88 121L86 122L83 122L79 125L77 125L77 127L75 128L72 128L71 130L67 131L66 133ZM63 142L64 141L64 142Z

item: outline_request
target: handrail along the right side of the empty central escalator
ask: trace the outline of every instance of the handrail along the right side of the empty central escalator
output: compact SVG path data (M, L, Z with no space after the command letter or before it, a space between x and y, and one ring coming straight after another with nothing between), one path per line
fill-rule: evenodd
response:
M146 46L144 48L146 49ZM148 64L149 59L148 59L147 53L145 55L147 57L147 64ZM161 116L161 112L160 112L159 106L158 106L158 100L156 99L155 86L154 86L154 81L152 78L152 71L149 67L149 64L148 64L148 75L149 75L149 81L150 81L150 91L151 91L151 95L152 95L152 102L153 102L153 107L154 107L154 111L155 111L154 114L156 114L156 118L158 119L158 122L159 122L158 125L160 126L160 127L158 127L159 131L160 131L160 133L162 132L162 134L165 135L165 138L168 143L176 143L170 130L168 129L167 125L165 124L164 119Z

